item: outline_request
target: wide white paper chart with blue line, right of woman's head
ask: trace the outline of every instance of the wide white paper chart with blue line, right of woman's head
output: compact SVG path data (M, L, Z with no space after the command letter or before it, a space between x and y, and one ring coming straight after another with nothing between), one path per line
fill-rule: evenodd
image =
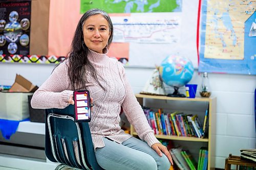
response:
M163 14L154 16L114 16L113 42L178 43L181 35L181 17Z

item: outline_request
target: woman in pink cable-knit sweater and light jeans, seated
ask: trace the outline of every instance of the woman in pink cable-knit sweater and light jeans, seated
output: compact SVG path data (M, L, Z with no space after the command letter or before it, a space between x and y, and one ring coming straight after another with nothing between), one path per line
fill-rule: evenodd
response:
M173 164L170 153L148 125L124 67L107 56L112 39L113 24L106 12L91 9L84 13L67 59L34 93L31 106L65 108L74 104L73 90L87 89L94 101L89 126L98 164L106 170L167 170ZM121 130L121 107L146 142Z

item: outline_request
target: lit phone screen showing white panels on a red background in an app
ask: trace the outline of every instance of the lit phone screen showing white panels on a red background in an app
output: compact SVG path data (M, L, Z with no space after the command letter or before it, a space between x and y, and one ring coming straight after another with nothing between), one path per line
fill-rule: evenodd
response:
M89 93L88 91L78 92L75 91L75 111L76 119L84 120L90 119L90 107L89 107Z

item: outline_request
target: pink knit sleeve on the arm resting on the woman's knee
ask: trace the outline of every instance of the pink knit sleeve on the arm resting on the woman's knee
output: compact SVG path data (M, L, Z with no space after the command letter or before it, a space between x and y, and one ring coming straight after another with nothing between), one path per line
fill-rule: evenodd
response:
M135 131L138 133L138 136L142 140L145 140L150 147L154 143L160 143L159 140L157 140L157 138L155 137L154 131L151 129L150 125L148 125L144 112L132 91L130 83L126 78L124 67L119 64L119 68L121 68L126 89L126 94L122 103L122 107L127 119L134 126Z

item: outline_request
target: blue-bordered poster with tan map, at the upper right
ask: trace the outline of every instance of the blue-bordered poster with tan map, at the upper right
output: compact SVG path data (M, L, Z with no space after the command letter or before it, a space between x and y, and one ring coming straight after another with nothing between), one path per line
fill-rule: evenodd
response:
M200 72L256 74L255 7L255 1L203 1Z

